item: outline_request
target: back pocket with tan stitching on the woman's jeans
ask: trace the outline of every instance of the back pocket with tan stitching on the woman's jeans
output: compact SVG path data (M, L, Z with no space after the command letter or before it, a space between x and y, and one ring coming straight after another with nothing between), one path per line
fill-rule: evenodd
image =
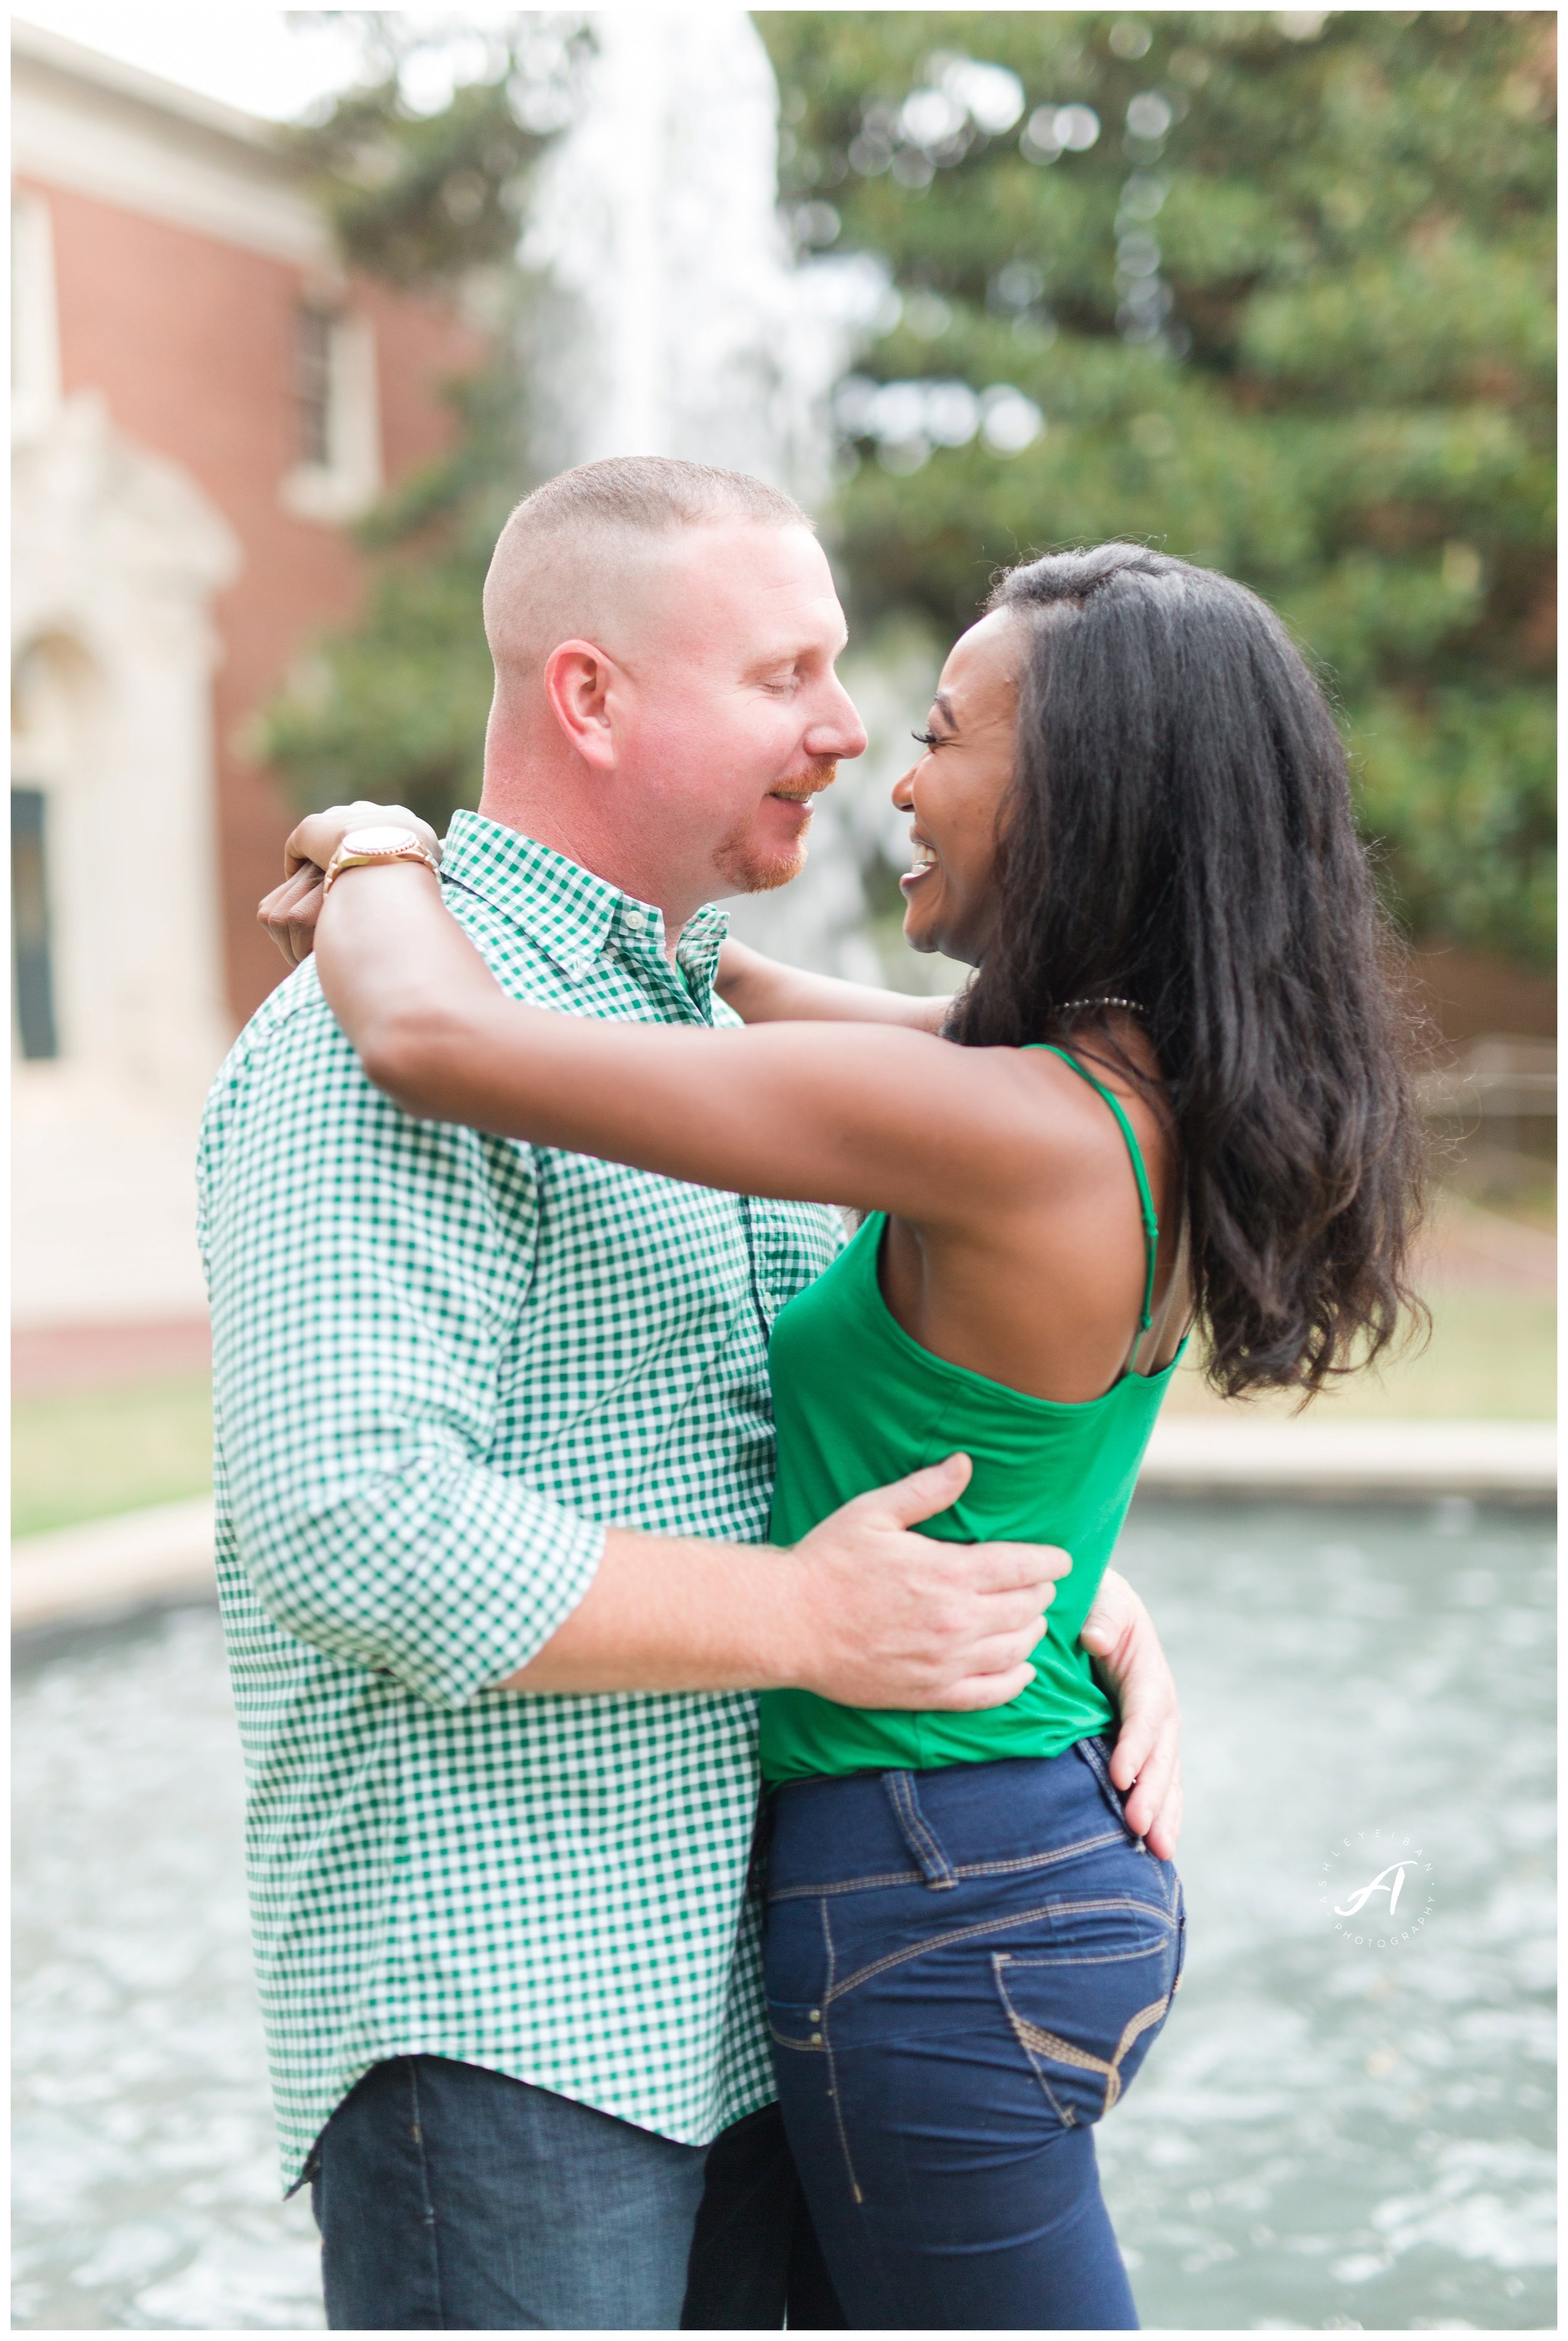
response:
M997 1997L1062 2126L1116 2105L1165 2023L1180 1936L1133 1894L1060 1901L1041 1950L992 1952Z

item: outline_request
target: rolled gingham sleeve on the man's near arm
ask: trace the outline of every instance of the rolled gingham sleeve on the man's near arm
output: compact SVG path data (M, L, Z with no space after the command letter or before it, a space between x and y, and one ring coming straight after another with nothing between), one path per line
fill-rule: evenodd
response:
M239 1561L286 1632L459 1709L534 1657L604 1550L601 1524L487 1461L531 1152L400 1114L314 969L274 997L201 1168Z

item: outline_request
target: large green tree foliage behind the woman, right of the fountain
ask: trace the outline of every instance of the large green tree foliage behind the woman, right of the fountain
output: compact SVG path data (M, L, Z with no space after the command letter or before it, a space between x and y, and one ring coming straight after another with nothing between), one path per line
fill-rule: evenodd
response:
M1407 920L1540 962L1554 19L756 21L805 241L875 253L901 295L864 372L1011 384L1044 419L1004 454L887 442L866 391L859 414L840 400L857 623L915 609L950 630L997 564L1060 543L1135 536L1226 569L1327 667ZM967 61L1013 73L1023 110L929 140L906 101L962 98ZM1058 152L1065 105L1100 129Z

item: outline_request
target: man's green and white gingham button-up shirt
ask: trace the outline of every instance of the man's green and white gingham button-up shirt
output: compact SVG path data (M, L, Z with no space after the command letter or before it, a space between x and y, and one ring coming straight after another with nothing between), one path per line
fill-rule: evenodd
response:
M686 927L459 812L447 906L508 993L735 1023ZM772 2095L744 1693L489 1686L604 1526L751 1540L768 1327L833 1213L398 1112L307 962L206 1110L218 1587L286 2184L356 2079L449 2055L704 2144Z

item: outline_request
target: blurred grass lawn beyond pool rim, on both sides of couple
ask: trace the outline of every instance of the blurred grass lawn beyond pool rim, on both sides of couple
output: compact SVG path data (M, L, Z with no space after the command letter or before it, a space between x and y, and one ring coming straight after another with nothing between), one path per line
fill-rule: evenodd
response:
M1432 1339L1381 1374L1357 1374L1308 1409L1315 1421L1545 1421L1556 1405L1556 1306L1535 1292L1437 1292ZM1170 1414L1231 1412L1184 1367ZM1290 1414L1280 1398L1233 1409ZM213 1484L206 1374L173 1374L119 1391L21 1398L12 1414L12 1533L178 1503Z

